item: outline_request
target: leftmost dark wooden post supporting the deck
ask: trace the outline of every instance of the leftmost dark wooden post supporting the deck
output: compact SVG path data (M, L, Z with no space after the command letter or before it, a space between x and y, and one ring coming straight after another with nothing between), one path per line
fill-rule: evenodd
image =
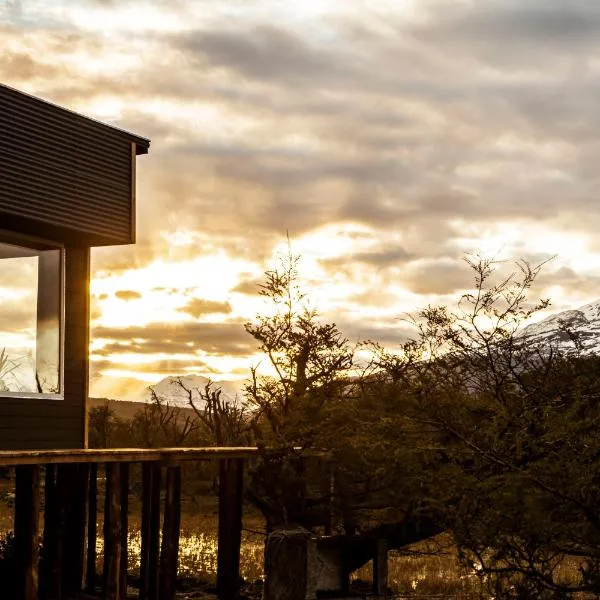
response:
M19 600L38 598L40 468L16 468L15 558Z

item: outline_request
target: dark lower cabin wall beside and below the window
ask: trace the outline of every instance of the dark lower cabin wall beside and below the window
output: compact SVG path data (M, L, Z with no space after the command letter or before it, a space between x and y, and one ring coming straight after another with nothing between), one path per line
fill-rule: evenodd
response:
M0 397L0 449L87 446L90 250L65 248L64 399Z

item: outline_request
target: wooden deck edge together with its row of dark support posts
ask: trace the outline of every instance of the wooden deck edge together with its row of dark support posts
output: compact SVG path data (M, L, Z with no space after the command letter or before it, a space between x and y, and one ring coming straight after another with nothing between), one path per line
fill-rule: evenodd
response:
M15 468L15 600L127 598L130 467L136 463L142 466L139 598L173 600L181 465L206 460L219 461L217 596L233 600L239 594L244 463L256 454L256 448L245 447L0 451L0 467ZM104 563L97 585L98 467L102 465Z

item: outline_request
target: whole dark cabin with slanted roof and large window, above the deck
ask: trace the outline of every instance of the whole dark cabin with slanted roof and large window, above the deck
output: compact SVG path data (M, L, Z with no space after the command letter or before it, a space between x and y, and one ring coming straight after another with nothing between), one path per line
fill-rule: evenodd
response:
M90 249L135 242L149 145L0 85L0 449L87 446Z

